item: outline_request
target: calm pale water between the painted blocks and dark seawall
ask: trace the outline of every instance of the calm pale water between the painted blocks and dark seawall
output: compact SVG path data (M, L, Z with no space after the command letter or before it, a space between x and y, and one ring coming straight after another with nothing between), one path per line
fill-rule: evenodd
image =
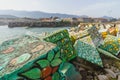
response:
M43 32L52 32L59 29L68 29L68 27L59 27L59 28L25 28L25 27L16 27L8 28L8 26L0 26L0 43L8 40L10 38L26 34L27 32L43 33Z

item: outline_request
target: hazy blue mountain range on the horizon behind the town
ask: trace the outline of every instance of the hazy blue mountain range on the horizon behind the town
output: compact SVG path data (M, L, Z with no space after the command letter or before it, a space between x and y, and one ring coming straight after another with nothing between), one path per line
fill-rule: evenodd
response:
M17 11L17 10L0 10L0 15L14 15L17 17L28 17L28 18L49 18L56 16L61 18L80 17L77 15L70 15L70 14L46 13L41 11Z

